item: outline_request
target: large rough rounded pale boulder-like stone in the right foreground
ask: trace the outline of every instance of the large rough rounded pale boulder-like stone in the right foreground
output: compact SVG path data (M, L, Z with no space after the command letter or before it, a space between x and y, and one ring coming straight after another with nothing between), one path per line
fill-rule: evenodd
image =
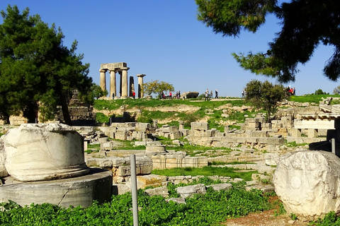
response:
M276 167L273 185L287 213L301 220L317 220L340 211L340 159L325 151L284 155Z

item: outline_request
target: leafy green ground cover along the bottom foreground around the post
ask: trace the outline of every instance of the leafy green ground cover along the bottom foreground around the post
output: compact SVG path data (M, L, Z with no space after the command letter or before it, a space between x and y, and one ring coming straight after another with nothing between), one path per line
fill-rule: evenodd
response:
M198 183L198 182L196 182ZM208 185L208 184L206 184ZM179 185L180 186L180 185ZM174 191L175 185L169 190ZM174 192L170 192L174 194ZM89 208L60 208L52 204L21 207L2 203L1 225L132 225L131 194L112 196L108 203ZM167 203L162 196L147 196L138 191L139 225L218 225L228 218L268 210L268 196L262 191L245 191L244 184L233 184L229 191L213 191L187 198L186 204Z

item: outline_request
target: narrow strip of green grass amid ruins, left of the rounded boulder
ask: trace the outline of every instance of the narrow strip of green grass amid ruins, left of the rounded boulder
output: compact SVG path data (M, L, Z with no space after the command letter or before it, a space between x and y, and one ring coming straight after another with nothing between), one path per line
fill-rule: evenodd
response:
M232 167L183 167L174 169L153 169L152 174L164 175L167 177L176 176L220 176L220 177L231 177L231 178L242 178L246 182L251 181L251 174L257 173L257 171L251 172L237 172Z

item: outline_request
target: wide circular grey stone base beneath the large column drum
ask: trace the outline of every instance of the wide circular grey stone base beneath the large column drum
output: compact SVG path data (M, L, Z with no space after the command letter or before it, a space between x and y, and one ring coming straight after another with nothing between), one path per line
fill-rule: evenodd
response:
M55 179L40 182L20 182L6 179L0 186L0 202L15 201L21 206L30 206L31 203L52 203L68 208L92 205L96 200L99 203L110 201L112 189L112 172L90 168L89 174L69 179Z

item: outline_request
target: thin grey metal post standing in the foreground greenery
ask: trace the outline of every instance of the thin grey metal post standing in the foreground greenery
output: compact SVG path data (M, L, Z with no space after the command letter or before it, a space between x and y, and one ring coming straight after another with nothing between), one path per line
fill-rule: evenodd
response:
M136 156L130 155L133 226L138 226Z

